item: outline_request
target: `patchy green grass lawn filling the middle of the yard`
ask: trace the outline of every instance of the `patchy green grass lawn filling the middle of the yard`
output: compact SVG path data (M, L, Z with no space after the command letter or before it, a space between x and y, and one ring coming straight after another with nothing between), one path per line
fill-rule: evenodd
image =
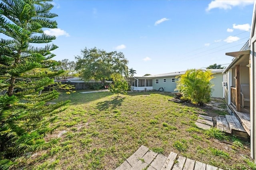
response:
M60 127L46 137L60 137L60 142L18 158L14 169L115 169L141 145L223 169L255 168L248 159L247 143L234 137L225 142L210 138L194 125L199 113L216 116L223 111L173 103L168 101L172 94L166 92L115 96L110 92L60 95L58 100L71 103L54 123Z

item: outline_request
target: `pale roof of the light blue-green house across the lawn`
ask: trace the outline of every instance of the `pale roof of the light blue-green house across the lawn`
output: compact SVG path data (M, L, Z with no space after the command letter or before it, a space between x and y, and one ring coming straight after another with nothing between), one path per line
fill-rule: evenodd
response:
M224 71L224 69L206 69L210 70L212 73L221 73ZM158 78L158 77L174 77L174 76L179 76L182 74L185 74L186 71L178 71L178 72L170 72L170 73L164 73L164 74L155 74L155 75L150 75L150 76L143 76L143 77L130 77L131 78Z

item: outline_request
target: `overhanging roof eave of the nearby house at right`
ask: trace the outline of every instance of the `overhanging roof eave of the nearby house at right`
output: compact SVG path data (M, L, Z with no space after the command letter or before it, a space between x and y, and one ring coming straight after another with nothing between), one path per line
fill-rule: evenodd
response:
M235 57L232 62L225 68L225 70L223 71L226 72L227 70L229 70L235 63L236 61L238 61L238 59L240 59L242 56L244 56L245 54L250 54L250 47L249 47L249 40L244 44L244 46L242 47L242 49L240 51L235 51L235 52L230 52L230 53L226 53L226 55L228 56L232 56Z

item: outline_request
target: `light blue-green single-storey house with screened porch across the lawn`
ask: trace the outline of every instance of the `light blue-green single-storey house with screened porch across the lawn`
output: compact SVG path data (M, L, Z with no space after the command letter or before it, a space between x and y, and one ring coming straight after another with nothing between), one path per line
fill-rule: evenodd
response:
M223 98L223 87L222 81L223 76L222 72L224 69L207 69L211 70L214 73L214 77L211 82L214 84L212 97ZM180 76L184 74L186 71L180 72L171 72L166 74L156 74L150 76L143 77L130 77L128 79L128 84L131 87L131 90L141 91L141 90L160 90L165 92L175 92L176 82L178 78L176 76Z

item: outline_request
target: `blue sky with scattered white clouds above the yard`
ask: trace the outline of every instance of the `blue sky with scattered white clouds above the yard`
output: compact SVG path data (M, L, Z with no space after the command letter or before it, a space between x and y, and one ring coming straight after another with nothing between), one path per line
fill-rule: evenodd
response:
M249 39L253 1L54 0L55 60L120 51L136 76L231 63Z

